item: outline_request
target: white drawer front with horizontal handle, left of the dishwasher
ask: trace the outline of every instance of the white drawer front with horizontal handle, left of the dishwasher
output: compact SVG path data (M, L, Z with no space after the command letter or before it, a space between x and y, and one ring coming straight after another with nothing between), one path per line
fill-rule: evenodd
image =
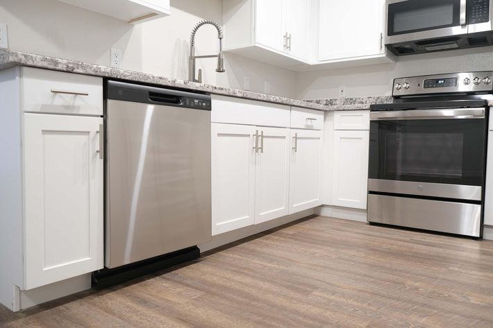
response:
M22 67L24 112L103 115L103 79Z

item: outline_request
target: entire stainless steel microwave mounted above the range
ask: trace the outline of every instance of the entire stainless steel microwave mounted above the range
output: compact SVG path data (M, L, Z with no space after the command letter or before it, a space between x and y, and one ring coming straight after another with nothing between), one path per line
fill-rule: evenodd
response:
M493 0L387 0L385 45L395 55L493 44Z

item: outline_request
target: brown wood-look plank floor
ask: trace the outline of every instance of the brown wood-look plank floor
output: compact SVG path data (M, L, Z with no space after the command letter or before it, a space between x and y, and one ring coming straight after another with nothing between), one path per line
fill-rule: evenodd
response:
M493 327L493 242L312 216L0 327Z

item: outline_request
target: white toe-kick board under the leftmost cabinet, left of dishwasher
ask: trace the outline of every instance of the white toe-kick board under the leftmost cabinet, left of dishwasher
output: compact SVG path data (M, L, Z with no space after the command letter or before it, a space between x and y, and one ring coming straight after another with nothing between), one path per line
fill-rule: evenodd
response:
M35 305L56 300L86 291L91 288L91 274L80 275L78 277L55 282L47 286L41 286L29 291L21 291L19 287L14 286L14 308L13 311L25 310Z

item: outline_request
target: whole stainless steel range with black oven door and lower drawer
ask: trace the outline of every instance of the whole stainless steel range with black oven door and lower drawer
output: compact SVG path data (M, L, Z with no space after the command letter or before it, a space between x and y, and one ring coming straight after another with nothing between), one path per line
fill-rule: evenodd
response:
M397 78L370 113L368 221L481 237L493 71Z

